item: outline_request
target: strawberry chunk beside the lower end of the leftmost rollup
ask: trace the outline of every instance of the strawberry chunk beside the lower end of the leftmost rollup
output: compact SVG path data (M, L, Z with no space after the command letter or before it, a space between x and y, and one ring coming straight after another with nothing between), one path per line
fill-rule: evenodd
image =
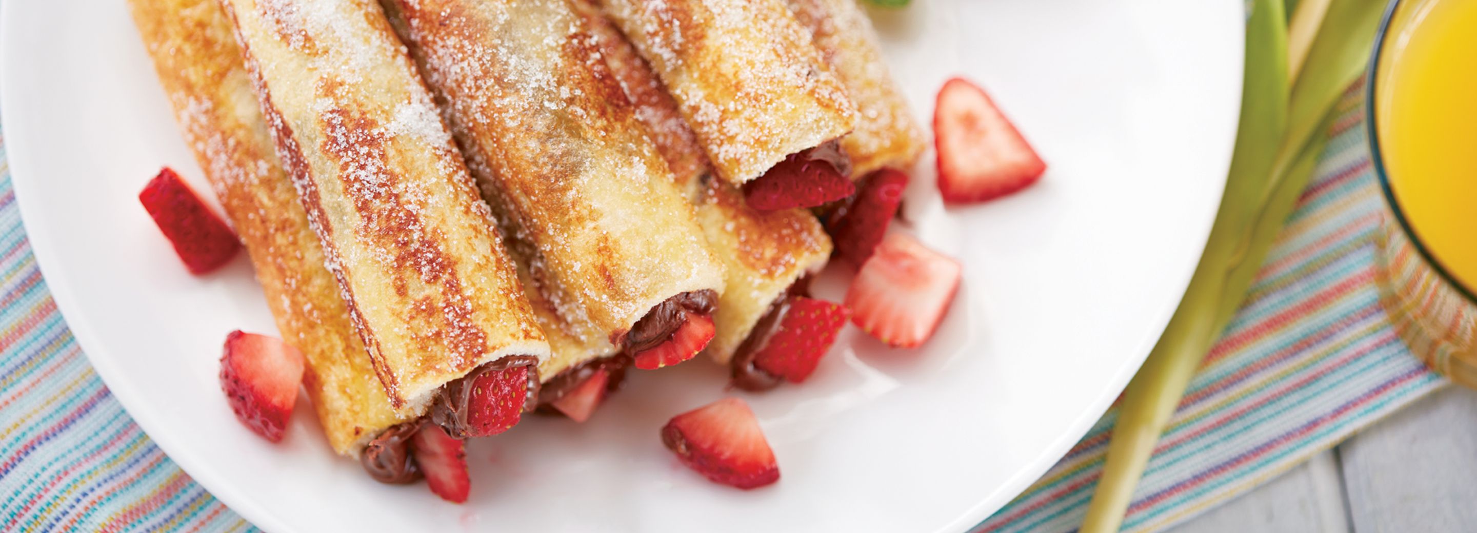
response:
M273 443L282 440L297 387L303 353L275 337L232 331L220 356L220 388L236 419Z

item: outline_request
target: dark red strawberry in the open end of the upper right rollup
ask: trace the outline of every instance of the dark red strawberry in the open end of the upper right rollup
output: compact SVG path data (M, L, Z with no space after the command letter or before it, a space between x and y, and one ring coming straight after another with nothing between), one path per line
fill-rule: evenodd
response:
M759 211L817 207L851 196L857 186L824 159L792 154L753 182L744 183L749 207Z

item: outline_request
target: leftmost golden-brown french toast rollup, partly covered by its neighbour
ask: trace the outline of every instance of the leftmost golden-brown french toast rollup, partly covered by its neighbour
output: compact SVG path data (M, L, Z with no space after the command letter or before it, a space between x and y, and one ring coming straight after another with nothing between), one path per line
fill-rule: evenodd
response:
M303 387L334 452L357 456L409 413L390 408L323 248L273 152L230 22L216 0L130 0L185 142L251 255L267 307L303 351Z

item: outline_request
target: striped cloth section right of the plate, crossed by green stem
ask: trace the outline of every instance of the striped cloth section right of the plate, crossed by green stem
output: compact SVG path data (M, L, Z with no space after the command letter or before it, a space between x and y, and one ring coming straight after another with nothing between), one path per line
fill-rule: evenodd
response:
M1328 149L1241 312L1190 382L1149 459L1124 532L1155 532L1338 444L1445 381L1380 307L1380 190L1363 93L1344 94ZM1117 412L978 533L1081 524Z

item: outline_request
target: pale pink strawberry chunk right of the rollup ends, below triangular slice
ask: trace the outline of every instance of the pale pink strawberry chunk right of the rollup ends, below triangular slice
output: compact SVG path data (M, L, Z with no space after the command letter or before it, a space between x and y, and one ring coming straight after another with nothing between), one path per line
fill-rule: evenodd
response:
M923 344L954 300L959 276L959 261L888 233L846 292L851 322L888 345Z

